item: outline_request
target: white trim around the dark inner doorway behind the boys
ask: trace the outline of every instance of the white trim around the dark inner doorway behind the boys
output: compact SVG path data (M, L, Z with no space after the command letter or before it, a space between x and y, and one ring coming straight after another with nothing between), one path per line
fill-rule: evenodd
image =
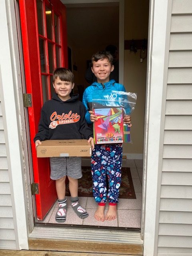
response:
M124 7L125 0L61 0L63 4L119 2L119 82L124 84Z

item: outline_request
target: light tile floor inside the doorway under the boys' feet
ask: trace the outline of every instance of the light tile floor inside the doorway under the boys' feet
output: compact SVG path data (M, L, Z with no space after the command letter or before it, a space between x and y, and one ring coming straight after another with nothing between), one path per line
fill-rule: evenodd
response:
M90 160L84 159L82 166L90 166ZM118 203L117 218L114 221L98 222L94 218L94 212L97 204L91 197L80 197L80 205L89 213L89 217L82 220L76 216L70 204L70 198L67 198L68 209L66 222L70 225L89 225L89 226L109 226L116 228L140 228L141 222L141 201L142 201L142 160L126 160L122 162L122 167L130 167L136 199L120 199ZM108 205L106 205L107 211ZM57 202L50 209L47 216L42 221L36 223L58 224L55 221L55 214L58 210Z

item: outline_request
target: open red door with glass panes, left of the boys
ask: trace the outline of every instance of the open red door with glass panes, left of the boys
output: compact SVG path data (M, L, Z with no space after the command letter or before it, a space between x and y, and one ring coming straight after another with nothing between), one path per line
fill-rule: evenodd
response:
M37 158L33 138L38 132L40 110L52 97L52 74L67 67L66 8L59 0L20 0L20 20L26 79L26 92L32 95L28 108L38 220L42 220L57 198L50 180L49 158Z

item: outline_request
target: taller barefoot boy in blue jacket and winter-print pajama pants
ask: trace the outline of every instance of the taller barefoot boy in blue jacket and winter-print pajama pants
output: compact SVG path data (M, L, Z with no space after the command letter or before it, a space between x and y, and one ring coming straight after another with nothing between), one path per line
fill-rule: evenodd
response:
M86 121L88 124L97 121L97 116L92 111L92 99L94 96L107 92L126 91L122 84L115 80L109 80L110 73L114 70L113 57L109 52L97 52L92 56L92 72L97 78L91 86L88 86L83 94L83 104L86 108ZM131 127L130 116L124 116L124 123ZM117 203L119 202L119 188L121 184L122 143L97 144L92 151L91 169L93 180L93 196L98 203L94 217L98 221L115 220ZM106 176L109 189L106 188ZM109 209L104 216L106 201L109 201Z

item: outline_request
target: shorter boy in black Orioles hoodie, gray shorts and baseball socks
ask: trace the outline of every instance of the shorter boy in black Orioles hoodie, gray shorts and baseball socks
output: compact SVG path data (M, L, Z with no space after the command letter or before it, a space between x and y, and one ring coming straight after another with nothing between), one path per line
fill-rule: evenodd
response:
M44 103L38 133L34 138L35 146L42 140L65 140L85 138L94 149L93 133L85 120L86 110L82 102L78 101L78 94L72 94L74 75L67 68L57 68L53 73L53 87L55 94L51 100ZM88 213L78 204L78 179L82 177L80 157L52 157L50 158L50 178L56 180L58 196L57 222L66 221L66 176L69 179L72 208L76 214L84 219Z

